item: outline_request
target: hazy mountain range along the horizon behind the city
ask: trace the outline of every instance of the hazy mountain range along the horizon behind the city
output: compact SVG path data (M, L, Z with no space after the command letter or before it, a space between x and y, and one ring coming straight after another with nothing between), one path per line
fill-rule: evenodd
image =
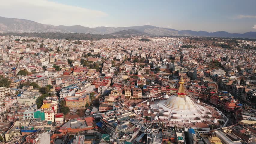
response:
M229 38L256 38L256 32L246 32L244 34L220 32L205 32L191 30L175 30L160 28L156 26L131 26L131 27L96 27L89 28L80 25L75 26L53 26L41 24L27 19L6 18L0 16L0 32L21 33L21 32L60 32L60 33L91 33L91 34L111 34L111 35L148 35L148 36L209 36L209 37L229 37Z

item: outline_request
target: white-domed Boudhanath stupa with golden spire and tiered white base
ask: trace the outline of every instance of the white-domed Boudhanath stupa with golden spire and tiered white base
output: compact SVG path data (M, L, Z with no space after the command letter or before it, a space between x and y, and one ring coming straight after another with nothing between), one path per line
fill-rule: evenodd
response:
M165 100L152 101L152 115L159 116L158 119L165 121L202 122L212 121L212 113L209 107L200 104L200 101L187 96L184 80L181 77L176 95L165 95ZM192 100L193 99L193 100Z

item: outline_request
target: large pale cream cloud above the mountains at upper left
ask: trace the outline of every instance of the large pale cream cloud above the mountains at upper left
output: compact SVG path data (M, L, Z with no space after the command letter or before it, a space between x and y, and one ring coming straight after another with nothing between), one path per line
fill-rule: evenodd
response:
M93 25L107 13L47 0L1 1L1 16L29 19L51 25Z

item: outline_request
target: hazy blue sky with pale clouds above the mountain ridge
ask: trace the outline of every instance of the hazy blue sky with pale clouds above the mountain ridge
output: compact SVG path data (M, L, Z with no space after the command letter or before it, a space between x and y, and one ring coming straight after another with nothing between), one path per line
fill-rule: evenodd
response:
M4 0L0 16L51 25L256 31L256 0Z

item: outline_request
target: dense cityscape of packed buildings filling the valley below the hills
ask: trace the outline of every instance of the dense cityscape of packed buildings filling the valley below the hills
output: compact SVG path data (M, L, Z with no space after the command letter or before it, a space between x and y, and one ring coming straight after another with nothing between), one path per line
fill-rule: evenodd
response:
M0 36L0 141L254 144L255 48L193 36Z

